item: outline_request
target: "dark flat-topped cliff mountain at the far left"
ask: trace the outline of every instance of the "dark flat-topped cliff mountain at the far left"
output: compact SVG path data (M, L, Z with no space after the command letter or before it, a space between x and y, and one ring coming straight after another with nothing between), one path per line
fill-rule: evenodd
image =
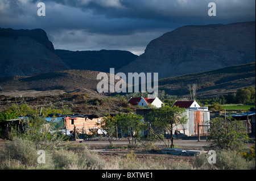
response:
M0 42L0 77L68 69L41 29L0 28Z

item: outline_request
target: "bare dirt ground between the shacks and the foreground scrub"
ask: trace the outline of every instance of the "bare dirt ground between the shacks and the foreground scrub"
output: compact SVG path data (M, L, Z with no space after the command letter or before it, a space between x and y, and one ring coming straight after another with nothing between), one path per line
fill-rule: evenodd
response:
M0 139L0 148L5 144L6 140ZM183 148L187 150L204 150L205 146L208 146L210 142L204 138L201 141L197 141L196 137L190 137L189 140L174 140L174 145L178 148ZM155 147L151 149L144 149L140 143L137 146L129 146L128 140L118 140L113 141L113 147L109 148L109 141L69 141L69 149L72 151L78 151L85 145L90 151L96 152L102 159L106 161L111 161L115 158L126 158L127 154L133 153L136 161L155 161L159 163L164 163L168 161L177 162L188 162L192 163L195 157L184 156L184 155L171 155L162 153L161 149L166 148L163 142L155 142ZM246 146L249 148L253 145L250 142Z

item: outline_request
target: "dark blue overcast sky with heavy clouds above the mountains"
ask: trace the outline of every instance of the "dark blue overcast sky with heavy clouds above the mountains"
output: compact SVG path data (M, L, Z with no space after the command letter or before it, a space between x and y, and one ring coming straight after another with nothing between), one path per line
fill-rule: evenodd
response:
M39 2L46 16L38 16ZM209 16L209 2L216 16ZM144 53L163 33L185 25L255 21L255 0L0 0L0 27L42 28L55 49Z

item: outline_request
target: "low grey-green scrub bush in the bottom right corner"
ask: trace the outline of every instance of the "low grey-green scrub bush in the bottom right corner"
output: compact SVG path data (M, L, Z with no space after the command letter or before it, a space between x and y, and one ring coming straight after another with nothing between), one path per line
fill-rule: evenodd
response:
M254 161L247 161L242 155L234 151L219 150L216 151L216 163L208 163L208 154L201 154L196 157L193 166L196 169L213 170L254 170Z

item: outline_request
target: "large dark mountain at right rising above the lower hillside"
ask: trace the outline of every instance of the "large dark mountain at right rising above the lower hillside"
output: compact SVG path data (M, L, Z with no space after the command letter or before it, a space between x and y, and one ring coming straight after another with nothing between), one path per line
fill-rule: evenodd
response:
M255 22L184 26L152 40L135 61L119 69L158 72L159 78L255 62Z

